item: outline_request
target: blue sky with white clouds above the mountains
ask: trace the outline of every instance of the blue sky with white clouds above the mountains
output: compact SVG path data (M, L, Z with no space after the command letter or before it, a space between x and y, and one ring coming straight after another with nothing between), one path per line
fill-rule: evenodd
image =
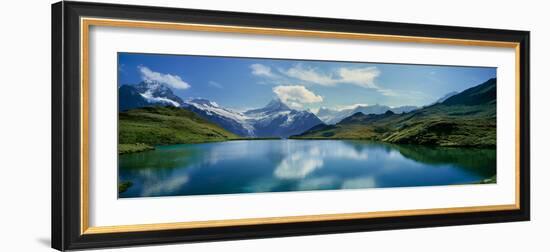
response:
M118 54L118 84L145 79L186 100L246 110L279 97L297 109L427 105L496 77L496 68L160 54Z

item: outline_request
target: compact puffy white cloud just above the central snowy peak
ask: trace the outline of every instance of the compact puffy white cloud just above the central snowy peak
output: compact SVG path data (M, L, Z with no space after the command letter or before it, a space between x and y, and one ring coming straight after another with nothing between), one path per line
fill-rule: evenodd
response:
M290 85L290 86L276 86L273 88L273 92L287 105L295 108L303 107L304 103L316 103L322 102L323 97L316 95L304 86Z

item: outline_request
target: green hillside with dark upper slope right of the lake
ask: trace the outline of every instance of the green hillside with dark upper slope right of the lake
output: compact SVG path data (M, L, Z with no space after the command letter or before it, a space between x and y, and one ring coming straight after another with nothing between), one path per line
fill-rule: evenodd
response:
M296 139L367 139L439 146L496 146L496 80L443 103L404 114L354 114L336 125L318 125Z

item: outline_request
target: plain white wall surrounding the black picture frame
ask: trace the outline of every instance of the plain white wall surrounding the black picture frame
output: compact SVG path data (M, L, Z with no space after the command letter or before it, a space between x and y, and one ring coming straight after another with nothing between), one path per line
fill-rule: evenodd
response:
M105 0L108 1L108 0ZM532 221L277 239L148 246L114 251L543 251L550 226L550 26L544 1L213 1L113 3L531 30ZM0 10L0 234L2 251L52 251L50 240L50 4ZM111 251L108 249L107 251Z

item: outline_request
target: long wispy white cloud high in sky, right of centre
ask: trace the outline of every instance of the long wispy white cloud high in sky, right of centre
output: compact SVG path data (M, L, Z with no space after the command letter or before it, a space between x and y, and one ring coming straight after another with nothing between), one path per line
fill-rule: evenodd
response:
M288 77L322 86L353 84L364 88L374 89L378 89L374 80L380 75L380 71L376 67L340 67L334 73L325 74L315 68L306 68L302 65L296 65L286 71L282 70L282 73Z

